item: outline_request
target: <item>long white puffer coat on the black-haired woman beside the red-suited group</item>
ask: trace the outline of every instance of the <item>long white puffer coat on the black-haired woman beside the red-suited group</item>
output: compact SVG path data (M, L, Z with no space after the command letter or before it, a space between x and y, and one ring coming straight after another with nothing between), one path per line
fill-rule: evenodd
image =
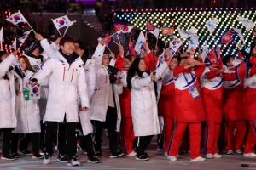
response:
M168 65L163 63L156 69L156 81L164 74ZM154 84L151 75L143 72L131 78L131 116L135 136L160 134Z

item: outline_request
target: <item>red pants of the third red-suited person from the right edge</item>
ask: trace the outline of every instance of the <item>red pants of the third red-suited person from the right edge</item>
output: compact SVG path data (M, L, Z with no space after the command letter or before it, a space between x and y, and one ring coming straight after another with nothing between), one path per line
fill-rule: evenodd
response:
M220 133L220 123L206 122L205 128L205 155L217 153L217 140Z

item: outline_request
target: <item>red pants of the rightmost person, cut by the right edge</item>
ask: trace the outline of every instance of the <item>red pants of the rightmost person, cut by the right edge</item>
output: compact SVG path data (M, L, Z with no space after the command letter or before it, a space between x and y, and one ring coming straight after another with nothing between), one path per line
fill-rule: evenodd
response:
M256 121L248 121L249 122L249 132L247 135L247 142L244 149L244 153L254 153L253 147L256 144Z

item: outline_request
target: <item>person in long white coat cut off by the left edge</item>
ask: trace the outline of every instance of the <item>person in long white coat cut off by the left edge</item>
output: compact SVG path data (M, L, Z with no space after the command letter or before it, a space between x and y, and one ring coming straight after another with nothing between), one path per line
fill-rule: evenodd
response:
M8 55L0 51L0 132L3 132L2 160L15 160L9 155L11 132L16 127L15 117L15 78L9 67L15 60L14 52Z

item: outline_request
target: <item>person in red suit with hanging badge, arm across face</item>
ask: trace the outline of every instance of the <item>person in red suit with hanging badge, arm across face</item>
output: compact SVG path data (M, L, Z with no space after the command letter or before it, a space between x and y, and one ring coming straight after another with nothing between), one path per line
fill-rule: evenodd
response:
M176 114L175 127L168 148L170 161L177 161L179 145L187 127L189 127L191 161L205 161L200 154L201 121L204 121L204 110L198 82L205 65L200 63L198 60L183 57L173 70Z

